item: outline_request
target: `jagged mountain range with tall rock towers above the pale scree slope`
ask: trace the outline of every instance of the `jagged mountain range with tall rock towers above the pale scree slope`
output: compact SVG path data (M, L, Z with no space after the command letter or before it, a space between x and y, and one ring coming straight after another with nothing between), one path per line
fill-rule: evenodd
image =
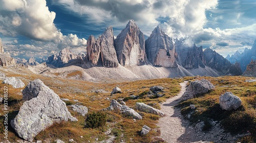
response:
M200 70L207 70L207 72L205 71L207 75L212 72L212 76L242 74L230 70L230 68L235 68L235 70L240 71L239 65L231 64L227 59L210 49L203 51L202 46L197 47L191 41L190 38L170 38L159 26L145 40L135 21L130 20L116 39L114 39L112 27L108 27L97 39L91 35L87 42L85 57L78 58L70 50L65 49L58 56L49 56L47 63L55 67L78 65L83 68L95 66L108 68L124 66L129 68L148 65L177 68L177 70L182 70L181 73L187 73L187 75L195 75L196 70L193 70L193 74L189 74L190 70L192 72L192 69L199 68ZM200 71L199 73L204 72Z

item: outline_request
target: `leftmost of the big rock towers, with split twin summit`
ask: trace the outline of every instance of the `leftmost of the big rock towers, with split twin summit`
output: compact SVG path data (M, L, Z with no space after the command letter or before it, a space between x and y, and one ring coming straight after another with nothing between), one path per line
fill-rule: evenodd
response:
M108 27L97 40L91 35L87 41L87 53L87 59L95 65L117 67L113 28Z

